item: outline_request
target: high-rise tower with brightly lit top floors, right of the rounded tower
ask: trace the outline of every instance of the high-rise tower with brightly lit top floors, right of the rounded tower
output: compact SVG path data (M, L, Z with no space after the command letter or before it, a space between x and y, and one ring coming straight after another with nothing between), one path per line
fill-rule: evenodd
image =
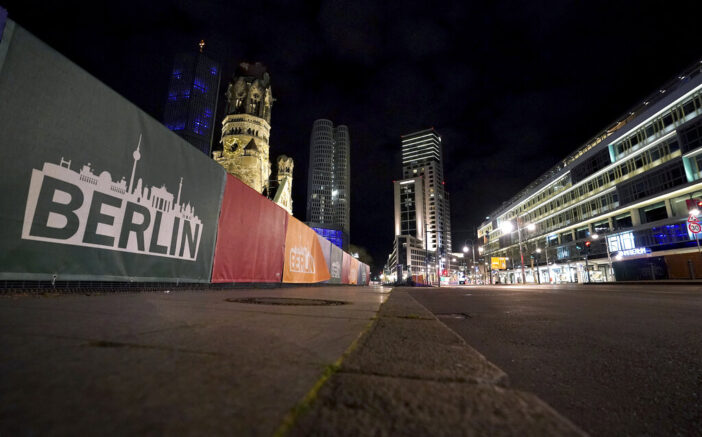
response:
M424 190L425 235L427 250L439 257L451 253L451 213L445 189L441 136L434 128L402 136L402 177L421 177ZM396 207L397 209L397 207ZM397 219L396 219L397 222Z

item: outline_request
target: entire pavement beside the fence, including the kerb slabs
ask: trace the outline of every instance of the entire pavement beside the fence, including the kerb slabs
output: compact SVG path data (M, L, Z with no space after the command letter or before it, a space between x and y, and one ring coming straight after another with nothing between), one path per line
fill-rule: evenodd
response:
M582 435L403 289L6 294L0 350L0 435Z

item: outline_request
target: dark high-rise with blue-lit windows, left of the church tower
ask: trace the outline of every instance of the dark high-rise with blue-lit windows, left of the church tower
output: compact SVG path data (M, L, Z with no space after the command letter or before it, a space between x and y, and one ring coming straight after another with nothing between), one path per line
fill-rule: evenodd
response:
M219 95L219 63L199 51L180 53L173 62L163 115L167 128L210 156Z

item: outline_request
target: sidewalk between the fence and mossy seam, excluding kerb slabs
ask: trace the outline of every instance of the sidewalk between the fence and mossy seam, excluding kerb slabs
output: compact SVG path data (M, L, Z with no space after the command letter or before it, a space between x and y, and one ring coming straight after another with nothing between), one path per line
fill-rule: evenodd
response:
M270 436L388 291L0 296L0 435Z

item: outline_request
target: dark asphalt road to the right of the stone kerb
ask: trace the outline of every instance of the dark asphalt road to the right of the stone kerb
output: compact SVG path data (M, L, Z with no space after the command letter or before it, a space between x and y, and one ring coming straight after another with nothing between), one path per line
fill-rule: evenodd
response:
M412 291L468 344L595 436L702 435L702 287Z

